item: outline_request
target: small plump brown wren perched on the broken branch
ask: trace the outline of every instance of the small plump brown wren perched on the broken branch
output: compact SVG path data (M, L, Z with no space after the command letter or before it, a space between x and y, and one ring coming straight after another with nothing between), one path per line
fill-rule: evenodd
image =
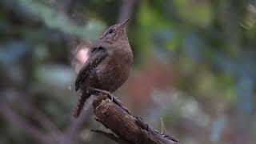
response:
M75 90L81 90L74 117L78 117L91 88L113 93L130 75L133 53L126 36L127 19L121 24L110 26L102 37L90 47L89 58L79 71Z

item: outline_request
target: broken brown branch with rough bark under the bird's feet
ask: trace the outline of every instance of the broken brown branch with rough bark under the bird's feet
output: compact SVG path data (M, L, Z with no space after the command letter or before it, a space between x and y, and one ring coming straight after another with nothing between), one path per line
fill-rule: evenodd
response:
M106 95L98 94L93 102L94 114L114 134L94 130L98 134L118 143L130 144L178 144L178 141L168 135L152 130L142 118L134 117L122 105L112 102Z

